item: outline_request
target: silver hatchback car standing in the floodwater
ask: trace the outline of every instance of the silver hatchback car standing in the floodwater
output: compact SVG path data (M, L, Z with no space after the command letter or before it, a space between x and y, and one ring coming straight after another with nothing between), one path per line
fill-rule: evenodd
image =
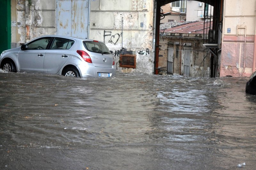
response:
M6 72L36 72L72 77L112 77L113 55L105 43L68 36L45 35L21 47L5 50L0 68Z

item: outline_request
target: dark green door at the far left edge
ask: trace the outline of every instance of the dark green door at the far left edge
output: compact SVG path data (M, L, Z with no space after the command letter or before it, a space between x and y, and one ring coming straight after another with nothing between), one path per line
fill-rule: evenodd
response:
M0 0L0 53L11 48L11 0Z

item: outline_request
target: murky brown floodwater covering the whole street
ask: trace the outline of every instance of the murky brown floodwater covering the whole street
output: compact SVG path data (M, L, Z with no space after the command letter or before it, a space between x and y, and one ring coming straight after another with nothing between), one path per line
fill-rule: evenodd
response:
M0 169L255 169L248 79L0 71Z

